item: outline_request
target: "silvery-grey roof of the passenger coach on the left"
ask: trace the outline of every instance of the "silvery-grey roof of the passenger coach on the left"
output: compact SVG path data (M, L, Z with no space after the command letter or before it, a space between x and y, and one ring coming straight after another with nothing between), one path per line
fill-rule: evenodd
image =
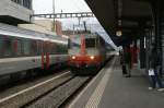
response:
M35 31L30 31L12 25L7 25L0 23L0 34L1 35L9 35L14 37L22 37L22 38L30 38L30 39L39 39L39 40L49 40L60 44L68 44L67 38L57 36L57 35L49 35L44 34Z

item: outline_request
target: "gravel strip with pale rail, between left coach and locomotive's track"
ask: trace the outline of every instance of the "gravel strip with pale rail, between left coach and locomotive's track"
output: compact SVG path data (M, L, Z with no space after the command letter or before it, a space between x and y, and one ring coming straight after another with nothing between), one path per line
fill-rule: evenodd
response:
M71 72L67 71L15 93L11 93L11 91L0 93L0 108L23 107L28 103L42 97L44 94L52 91L54 88L57 88L72 77L73 76ZM10 95L7 96L7 94Z

